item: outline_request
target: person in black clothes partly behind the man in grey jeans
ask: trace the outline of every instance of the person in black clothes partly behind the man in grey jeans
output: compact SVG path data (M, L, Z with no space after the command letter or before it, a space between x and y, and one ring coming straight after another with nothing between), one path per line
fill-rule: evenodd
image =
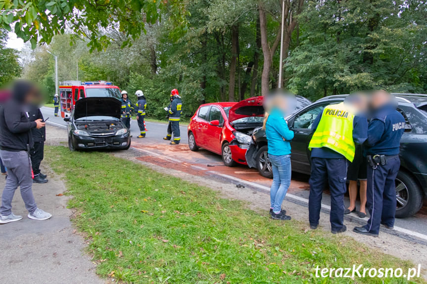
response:
M37 106L30 108L30 122L36 120L42 120L43 114ZM46 127L31 128L31 134L33 135L34 147L31 149L31 164L33 166L34 178L33 182L36 183L47 183L46 175L40 172L40 163L44 157L45 141L46 141Z

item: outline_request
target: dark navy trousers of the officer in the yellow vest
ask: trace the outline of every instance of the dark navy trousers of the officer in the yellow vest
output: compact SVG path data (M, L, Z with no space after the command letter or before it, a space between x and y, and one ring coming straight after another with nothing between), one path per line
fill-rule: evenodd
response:
M332 231L339 231L344 225L344 193L347 190L347 159L311 159L310 193L308 197L308 218L310 225L318 225L322 207L322 193L326 184L331 192L330 222Z

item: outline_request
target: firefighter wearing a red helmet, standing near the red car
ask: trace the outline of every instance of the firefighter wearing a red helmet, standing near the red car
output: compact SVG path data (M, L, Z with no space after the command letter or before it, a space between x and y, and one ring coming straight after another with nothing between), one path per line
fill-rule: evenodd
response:
M174 134L174 140L170 143L171 145L180 144L180 118L182 113L183 102L178 93L177 89L171 91L171 104L169 105L169 124L168 134L163 140L171 140L172 133Z

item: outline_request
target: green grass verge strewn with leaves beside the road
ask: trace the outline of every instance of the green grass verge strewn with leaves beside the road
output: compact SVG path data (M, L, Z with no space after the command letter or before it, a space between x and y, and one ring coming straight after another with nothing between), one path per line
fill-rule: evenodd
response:
M46 148L103 277L123 283L380 284L378 278L315 278L314 268L414 266L295 220L271 220L267 212L108 153Z

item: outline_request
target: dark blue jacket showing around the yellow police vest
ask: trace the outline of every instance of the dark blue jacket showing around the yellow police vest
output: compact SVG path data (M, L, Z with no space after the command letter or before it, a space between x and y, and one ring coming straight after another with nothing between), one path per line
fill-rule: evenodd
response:
M311 130L316 131L317 125L322 118L322 113L320 113L317 118L314 120L313 125L311 125ZM355 116L353 119L353 141L357 144L363 144L368 135L368 120L363 116ZM322 148L313 148L311 150L312 158L324 158L324 159L340 159L344 158L341 154L333 151L332 149L322 147Z

